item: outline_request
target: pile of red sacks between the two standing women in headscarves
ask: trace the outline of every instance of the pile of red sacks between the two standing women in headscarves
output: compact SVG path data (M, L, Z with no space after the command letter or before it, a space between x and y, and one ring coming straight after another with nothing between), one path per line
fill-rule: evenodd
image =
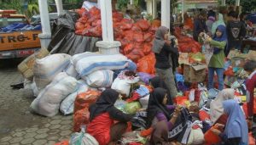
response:
M178 51L181 53L198 53L201 52L201 44L189 36L182 35L179 27L175 28L175 34L178 42Z

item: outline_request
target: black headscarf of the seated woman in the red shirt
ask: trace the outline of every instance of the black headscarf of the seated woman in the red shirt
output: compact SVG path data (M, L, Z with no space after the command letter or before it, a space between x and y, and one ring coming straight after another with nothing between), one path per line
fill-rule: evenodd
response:
M97 115L108 112L114 108L113 104L118 98L119 92L116 92L113 89L103 91L96 103L90 106L90 121L93 120Z

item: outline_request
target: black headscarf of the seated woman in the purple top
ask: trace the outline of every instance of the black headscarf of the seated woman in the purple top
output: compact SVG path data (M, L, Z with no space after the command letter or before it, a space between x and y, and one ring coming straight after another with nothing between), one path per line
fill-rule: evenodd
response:
M163 113L166 115L167 120L170 120L171 112L166 108L166 105L163 104L163 100L166 96L166 90L160 87L154 89L150 94L148 101L148 127L151 125L152 120L156 114Z

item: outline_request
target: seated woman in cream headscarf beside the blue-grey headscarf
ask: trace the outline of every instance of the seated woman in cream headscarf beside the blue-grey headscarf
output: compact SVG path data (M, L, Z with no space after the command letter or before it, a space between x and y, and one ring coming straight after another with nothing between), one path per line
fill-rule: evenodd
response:
M226 117L224 115L223 102L225 100L230 100L235 98L235 90L227 88L218 92L218 97L215 98L210 104L210 118L212 124L216 122L224 124L226 122Z

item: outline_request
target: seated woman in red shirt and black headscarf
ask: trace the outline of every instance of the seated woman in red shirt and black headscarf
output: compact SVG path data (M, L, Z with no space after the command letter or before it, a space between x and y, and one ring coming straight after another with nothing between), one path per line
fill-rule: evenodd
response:
M96 138L100 145L118 141L125 133L127 121L131 120L131 114L124 114L116 109L113 104L119 98L119 92L107 89L102 92L96 103L90 106L90 124L87 132ZM119 123L114 124L113 120Z

